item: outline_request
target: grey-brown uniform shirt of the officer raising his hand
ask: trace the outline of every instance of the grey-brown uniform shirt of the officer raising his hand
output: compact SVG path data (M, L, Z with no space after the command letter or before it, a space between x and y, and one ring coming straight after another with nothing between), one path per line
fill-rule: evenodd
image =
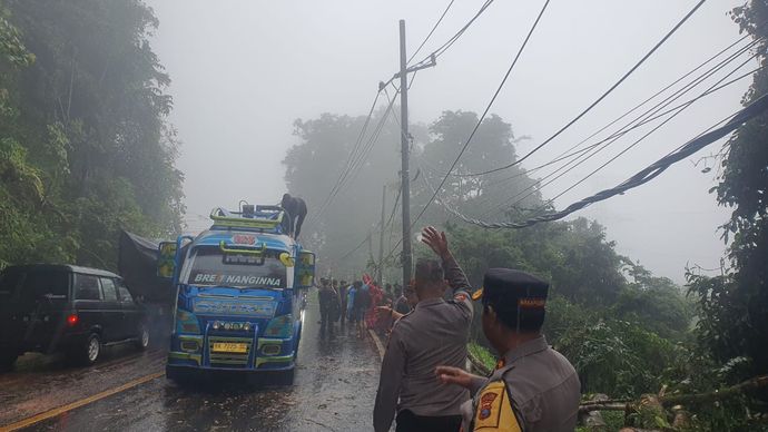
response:
M461 405L470 399L465 389L435 379L437 365L465 367L472 323L464 272L452 257L443 262L443 269L454 298L419 302L392 328L373 412L376 432L388 431L401 410L423 416L460 415Z

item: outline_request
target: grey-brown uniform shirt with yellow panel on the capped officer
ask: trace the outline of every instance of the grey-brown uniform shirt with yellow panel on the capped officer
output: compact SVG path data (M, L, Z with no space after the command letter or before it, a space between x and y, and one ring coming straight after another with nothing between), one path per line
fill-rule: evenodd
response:
M464 431L575 429L581 397L579 376L544 336L511 350L502 364L490 377L472 382L473 399L462 405Z

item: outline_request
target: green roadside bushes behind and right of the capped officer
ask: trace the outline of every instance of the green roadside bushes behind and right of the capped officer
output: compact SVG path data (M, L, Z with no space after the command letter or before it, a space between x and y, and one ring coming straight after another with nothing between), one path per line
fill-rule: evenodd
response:
M450 225L449 233L475 286L495 266L551 282L545 334L573 362L584 392L658 392L687 353L693 311L681 288L618 255L599 224L580 218L523 230ZM479 324L474 331L482 341Z

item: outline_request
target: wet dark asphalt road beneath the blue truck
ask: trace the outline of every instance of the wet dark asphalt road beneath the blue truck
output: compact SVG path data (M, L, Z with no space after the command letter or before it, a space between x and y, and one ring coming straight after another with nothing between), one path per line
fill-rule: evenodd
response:
M322 331L317 294L309 294L294 384L239 374L185 385L165 377L37 423L29 431L368 431L380 360L370 337L335 324ZM163 348L117 348L93 367L48 363L0 375L3 424L163 371ZM32 362L33 363L33 362Z

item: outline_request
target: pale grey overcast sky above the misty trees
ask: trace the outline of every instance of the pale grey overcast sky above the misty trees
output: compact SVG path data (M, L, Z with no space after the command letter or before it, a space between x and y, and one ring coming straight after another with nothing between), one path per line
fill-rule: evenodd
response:
M285 192L280 160L297 141L293 121L322 112L367 112L377 82L397 69L397 21L406 20L411 51L447 2L148 0L160 20L154 49L173 79L170 120L184 143L178 167L186 175L189 226L207 226L211 207L236 207L240 198L276 203ZM455 0L425 52L447 40L481 3ZM437 67L419 73L410 94L411 122L429 124L445 109L482 112L542 3L495 1ZM553 0L492 109L516 135L532 137L518 153L530 150L589 106L695 3ZM727 12L740 3L705 3L617 91L524 166L551 160L735 42L738 28ZM754 65L744 70L749 67ZM563 195L558 208L620 183L732 114L748 85L749 79L742 80L697 102ZM629 146L629 138L544 188L544 197ZM701 156L717 153L720 144ZM716 228L728 212L707 193L716 184L717 167L709 163L715 169L703 174L703 163L692 164L697 159L578 215L605 225L620 253L677 282L682 282L686 263L718 267L723 244Z

